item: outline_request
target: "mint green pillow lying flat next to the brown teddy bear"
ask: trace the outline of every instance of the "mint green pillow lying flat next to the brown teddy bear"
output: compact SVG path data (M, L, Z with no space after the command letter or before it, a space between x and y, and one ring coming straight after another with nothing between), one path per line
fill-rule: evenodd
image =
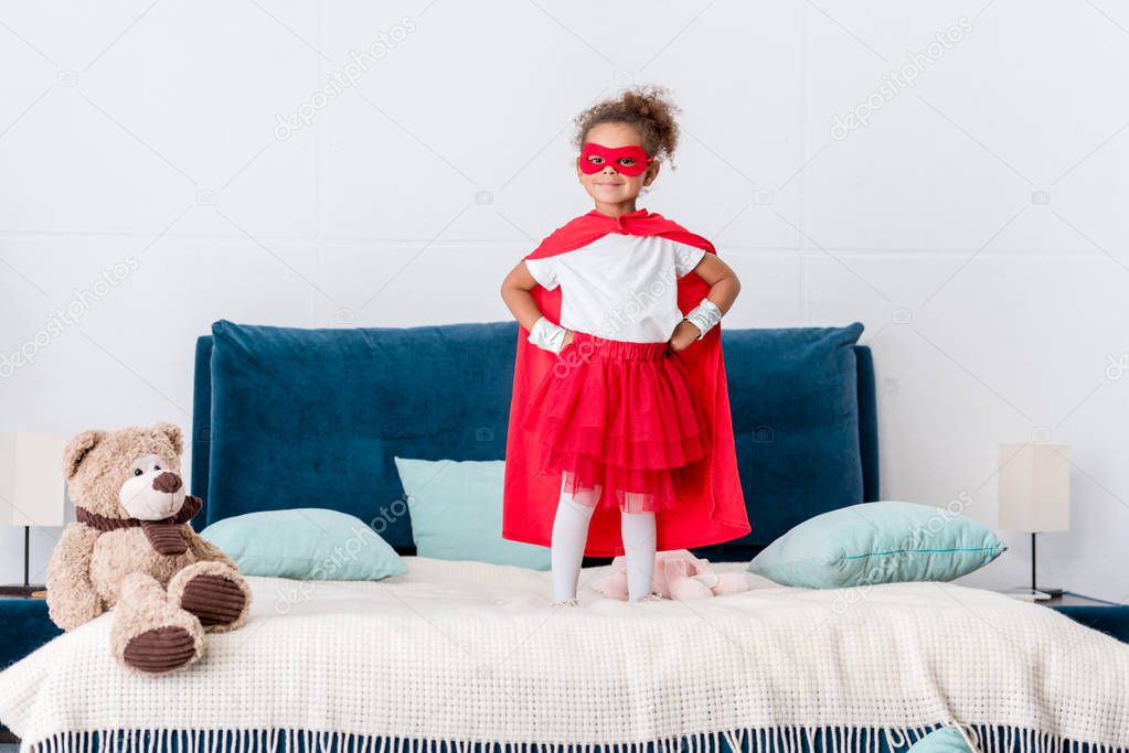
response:
M298 581L379 581L403 575L400 555L361 520L321 507L247 513L200 532L244 575Z

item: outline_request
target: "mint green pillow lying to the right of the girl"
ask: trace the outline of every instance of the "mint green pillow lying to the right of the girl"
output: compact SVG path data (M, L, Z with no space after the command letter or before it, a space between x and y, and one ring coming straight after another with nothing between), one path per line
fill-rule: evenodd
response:
M807 588L952 581L1005 549L995 533L947 507L868 502L804 521L754 557L749 572Z

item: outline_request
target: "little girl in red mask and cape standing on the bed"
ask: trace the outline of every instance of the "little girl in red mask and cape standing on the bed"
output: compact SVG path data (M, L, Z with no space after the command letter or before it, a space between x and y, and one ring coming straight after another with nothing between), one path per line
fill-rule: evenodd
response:
M708 240L636 209L676 112L641 88L577 116L595 209L501 286L519 325L502 537L551 546L554 604L577 604L586 553L625 553L629 599L651 600L656 547L750 531L717 327L741 284Z

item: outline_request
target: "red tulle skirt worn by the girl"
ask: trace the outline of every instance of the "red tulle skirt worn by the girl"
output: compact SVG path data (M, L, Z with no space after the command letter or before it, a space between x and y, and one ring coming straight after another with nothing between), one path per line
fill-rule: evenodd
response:
M680 473L710 451L708 418L666 342L576 331L522 425L540 445L537 472L561 473L577 502L628 513L676 506Z

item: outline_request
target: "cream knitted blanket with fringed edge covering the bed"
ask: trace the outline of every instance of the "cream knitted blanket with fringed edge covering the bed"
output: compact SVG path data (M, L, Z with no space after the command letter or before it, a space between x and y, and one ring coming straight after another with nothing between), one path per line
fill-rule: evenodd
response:
M1129 646L995 593L750 576L752 591L711 600L628 604L581 587L581 608L551 608L546 573L405 561L409 575L380 583L251 578L247 624L164 677L111 658L103 615L0 673L0 719L43 753L99 735L103 751L151 751L149 730L182 730L185 753L294 751L301 735L341 753L475 741L849 753L954 721L986 751L1129 751Z

